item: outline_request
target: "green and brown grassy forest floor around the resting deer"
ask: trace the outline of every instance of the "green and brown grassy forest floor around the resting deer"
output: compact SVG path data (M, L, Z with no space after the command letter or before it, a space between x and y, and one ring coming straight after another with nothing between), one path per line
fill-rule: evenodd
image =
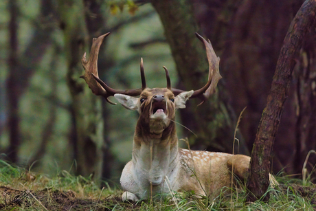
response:
M0 210L316 210L316 188L302 180L278 177L267 202L245 203L245 186L223 188L214 200L192 192L172 192L153 202L122 202L120 188L98 188L90 178L65 170L48 178L0 160Z

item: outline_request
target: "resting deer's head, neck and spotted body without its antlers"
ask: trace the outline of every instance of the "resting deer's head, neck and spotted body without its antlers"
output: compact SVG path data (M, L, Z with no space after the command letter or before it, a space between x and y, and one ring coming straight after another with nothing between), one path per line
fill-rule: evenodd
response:
M140 114L133 157L120 179L126 190L123 201L148 199L171 190L215 197L221 188L231 186L233 163L236 175L241 179L247 176L250 157L178 148L174 111L185 107L192 93L183 92L175 98L168 89L145 89L140 98L115 94L124 107ZM161 101L155 99L157 96ZM146 100L140 102L140 99Z

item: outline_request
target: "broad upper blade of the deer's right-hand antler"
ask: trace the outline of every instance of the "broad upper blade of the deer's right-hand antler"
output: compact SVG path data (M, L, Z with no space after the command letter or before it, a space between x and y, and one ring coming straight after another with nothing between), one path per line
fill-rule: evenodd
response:
M219 73L220 58L216 56L210 41L207 42L205 38L203 38L200 34L195 34L205 45L207 60L210 65L210 68L206 85L201 89L194 90L194 93L190 98L201 98L204 101L205 98L210 98L210 96L215 92L218 80L222 78L221 74ZM171 90L174 93L174 95L178 95L179 93L183 92L183 90L180 89L172 88Z

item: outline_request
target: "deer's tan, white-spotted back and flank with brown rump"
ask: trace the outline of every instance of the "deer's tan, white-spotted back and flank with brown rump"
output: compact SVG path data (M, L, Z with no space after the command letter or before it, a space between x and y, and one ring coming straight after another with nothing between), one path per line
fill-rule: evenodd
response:
M232 165L240 179L247 177L250 157L179 148L179 190L216 196L232 185Z

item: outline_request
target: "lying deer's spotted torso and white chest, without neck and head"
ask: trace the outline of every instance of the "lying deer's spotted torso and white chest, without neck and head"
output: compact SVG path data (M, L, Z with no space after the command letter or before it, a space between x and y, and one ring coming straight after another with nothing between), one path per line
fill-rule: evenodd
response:
M139 166L133 164L132 160L126 164L122 172L121 185L127 191L122 195L122 199L124 201L148 199L150 195L168 193L170 190L194 191L196 195L216 197L223 187L232 186L232 162L234 160L240 161L236 168L241 171L239 176L245 179L250 161L248 156L189 151L179 148L170 166L166 168L168 169L166 175L163 177L159 174L165 179L153 188L150 188L150 177L153 177L150 174L150 169L153 168L139 170Z

